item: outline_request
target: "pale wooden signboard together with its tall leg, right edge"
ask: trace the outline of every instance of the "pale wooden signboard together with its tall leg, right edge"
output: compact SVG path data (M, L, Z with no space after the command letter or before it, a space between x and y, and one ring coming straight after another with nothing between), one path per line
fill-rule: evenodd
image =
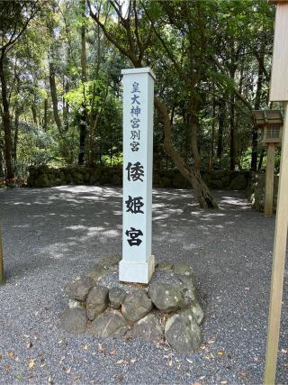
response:
M266 368L264 375L264 383L266 385L274 384L276 376L288 229L288 2L275 0L275 3L277 7L270 100L273 102L284 102L284 127L267 331Z

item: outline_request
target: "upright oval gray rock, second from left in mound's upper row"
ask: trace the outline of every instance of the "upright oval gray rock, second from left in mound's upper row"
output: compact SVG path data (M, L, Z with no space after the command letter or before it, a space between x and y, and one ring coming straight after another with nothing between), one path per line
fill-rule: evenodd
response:
M87 317L93 320L95 316L103 313L108 307L108 289L103 286L95 286L89 291L86 300Z

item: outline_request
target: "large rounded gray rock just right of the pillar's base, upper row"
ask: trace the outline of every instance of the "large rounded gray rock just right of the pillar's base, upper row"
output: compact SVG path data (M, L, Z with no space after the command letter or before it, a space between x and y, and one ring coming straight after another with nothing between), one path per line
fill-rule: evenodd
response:
M148 289L148 296L159 310L166 313L185 306L181 289L169 283L153 283Z

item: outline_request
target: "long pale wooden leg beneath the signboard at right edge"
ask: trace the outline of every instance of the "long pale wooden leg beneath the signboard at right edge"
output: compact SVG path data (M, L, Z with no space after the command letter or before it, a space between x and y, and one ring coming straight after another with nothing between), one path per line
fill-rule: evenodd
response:
M288 102L284 102L284 128L275 225L274 259L271 280L270 308L266 345L264 383L275 383L279 343L281 307L284 285L284 268L288 230Z

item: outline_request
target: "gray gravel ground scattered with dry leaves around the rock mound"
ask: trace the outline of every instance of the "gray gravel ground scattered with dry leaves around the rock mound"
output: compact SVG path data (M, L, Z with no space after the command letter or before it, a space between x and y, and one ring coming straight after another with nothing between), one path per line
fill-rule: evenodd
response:
M199 353L102 340L58 329L68 280L103 255L121 253L121 189L58 187L0 191L7 283L0 288L0 383L260 384L275 217L244 193L215 192L203 211L191 191L154 191L153 252L191 263L206 302ZM277 382L288 384L287 270Z

